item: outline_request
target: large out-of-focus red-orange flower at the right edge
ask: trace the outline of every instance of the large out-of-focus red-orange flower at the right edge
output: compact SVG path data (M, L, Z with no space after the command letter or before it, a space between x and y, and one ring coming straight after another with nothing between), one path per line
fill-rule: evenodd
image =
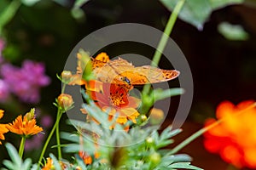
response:
M253 102L233 105L224 101L216 111L217 118L223 121L204 134L206 149L236 167L256 168L256 105ZM208 119L206 127L213 122L216 120Z

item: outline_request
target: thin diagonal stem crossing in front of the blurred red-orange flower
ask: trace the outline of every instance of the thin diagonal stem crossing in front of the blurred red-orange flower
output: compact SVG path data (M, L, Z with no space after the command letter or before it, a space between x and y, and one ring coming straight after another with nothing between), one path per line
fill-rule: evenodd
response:
M236 113L236 116L240 115L241 113L243 113L244 111L247 111L247 110L250 110L252 109L253 107L256 107L256 103L253 103L253 105L249 105L246 109ZM196 133L192 134L191 136L189 136L189 138L183 140L182 143L180 144L177 144L176 147L174 147L172 149L171 152L169 152L169 155L173 155L175 153L177 153L177 151L183 149L183 147L185 147L186 145L188 145L190 142L192 142L193 140L197 139L199 136L201 136L201 134L207 132L209 129L211 129L212 127L215 127L217 126L220 122L224 122L226 118L222 118L222 119L219 119L218 121L216 122L213 122L212 124L210 124L209 126L207 127L203 127L201 128L199 131L197 131Z

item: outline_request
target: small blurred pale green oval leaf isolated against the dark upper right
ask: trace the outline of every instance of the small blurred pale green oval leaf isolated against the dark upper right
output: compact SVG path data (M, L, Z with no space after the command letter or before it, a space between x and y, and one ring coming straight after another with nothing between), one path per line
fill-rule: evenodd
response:
M249 35L239 25L231 25L228 22L222 22L218 25L218 32L226 39L231 41L245 41Z

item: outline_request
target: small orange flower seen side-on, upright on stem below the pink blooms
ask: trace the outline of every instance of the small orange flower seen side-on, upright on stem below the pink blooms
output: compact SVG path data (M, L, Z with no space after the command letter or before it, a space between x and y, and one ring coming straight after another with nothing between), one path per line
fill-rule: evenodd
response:
M18 116L13 123L9 123L7 126L10 132L20 134L20 135L34 135L43 131L42 127L36 125L36 119L32 118L28 120L26 116Z

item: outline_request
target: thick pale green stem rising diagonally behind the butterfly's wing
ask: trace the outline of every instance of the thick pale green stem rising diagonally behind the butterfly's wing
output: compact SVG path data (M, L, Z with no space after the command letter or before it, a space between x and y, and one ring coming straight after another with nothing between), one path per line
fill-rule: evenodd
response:
M157 66L159 64L161 54L164 51L164 49L166 48L166 43L168 42L169 36L171 35L171 32L172 32L172 28L177 20L177 14L183 8L184 3L185 3L185 0L179 0L176 4L175 8L173 9L172 14L170 15L170 18L166 24L165 31L164 31L162 37L160 38L160 42L154 52L154 56L153 56L153 59L151 62L152 66ZM143 87L142 94L145 94L144 96L147 98L147 97L149 97L148 96L149 91L150 91L150 84L146 84ZM150 106L148 106L148 108L149 107Z

